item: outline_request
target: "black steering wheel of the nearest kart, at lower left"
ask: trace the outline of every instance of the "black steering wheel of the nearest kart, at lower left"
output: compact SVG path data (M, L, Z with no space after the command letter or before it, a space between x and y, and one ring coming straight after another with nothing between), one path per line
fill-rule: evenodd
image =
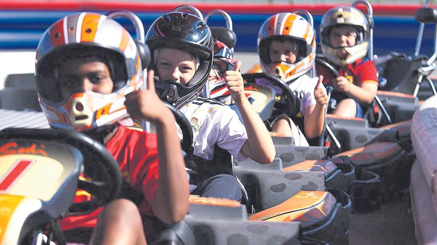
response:
M92 180L78 180L77 188L92 196L89 202L73 203L69 212L87 212L118 197L122 177L120 168L106 147L74 130L8 128L0 132L1 139L48 140L76 147L83 155L84 173Z

